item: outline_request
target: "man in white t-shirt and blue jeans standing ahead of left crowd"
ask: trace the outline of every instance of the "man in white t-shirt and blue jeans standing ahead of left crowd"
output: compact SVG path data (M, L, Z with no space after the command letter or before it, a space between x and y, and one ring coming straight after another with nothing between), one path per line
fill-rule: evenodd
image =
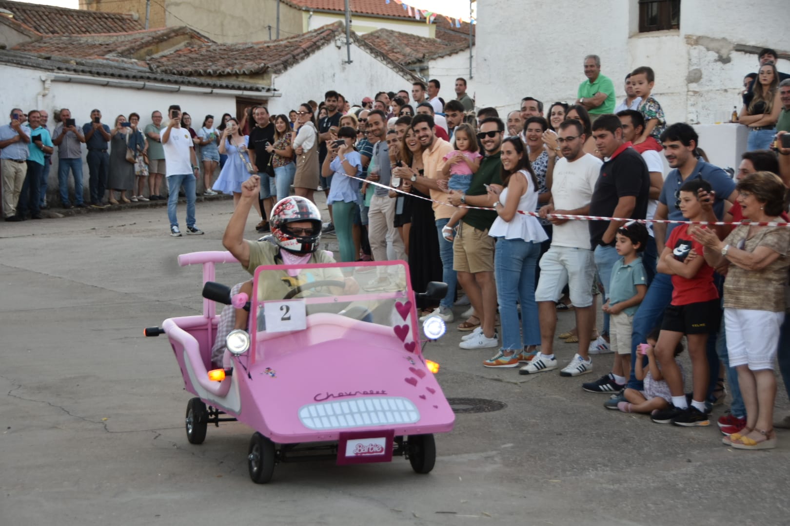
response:
M203 231L195 226L195 183L198 173L198 158L190 132L181 127L181 106L173 105L167 110L170 122L162 133L165 168L167 170L167 218L170 219L170 235L181 237L179 218L175 208L179 203L179 188L183 185L186 196L186 233L200 236Z

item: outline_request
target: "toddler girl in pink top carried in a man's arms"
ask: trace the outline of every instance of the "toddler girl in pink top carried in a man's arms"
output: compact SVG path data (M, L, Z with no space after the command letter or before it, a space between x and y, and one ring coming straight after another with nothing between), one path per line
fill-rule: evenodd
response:
M455 142L455 150L445 155L443 160L445 164L442 168L442 176L444 179L439 179L439 188L445 186L446 192L450 190L457 190L458 192L466 192L469 185L472 184L472 175L480 168L480 155L478 150L475 131L471 125L466 123L458 125L453 133L453 141ZM447 178L449 177L449 181ZM442 236L447 241L453 241L455 233L453 229L461 221L461 218L466 214L465 208L458 208L454 213L447 225L442 228Z

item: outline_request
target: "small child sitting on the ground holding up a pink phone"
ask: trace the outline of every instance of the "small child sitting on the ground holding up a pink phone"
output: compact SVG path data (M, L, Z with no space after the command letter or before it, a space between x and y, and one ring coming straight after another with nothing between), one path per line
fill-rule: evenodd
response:
M672 401L672 394L669 393L669 386L661 375L661 367L655 356L656 341L658 341L659 329L647 336L647 343L639 345L637 353L637 363L634 367L634 375L638 380L645 382L645 390L626 389L623 396L627 401L619 402L617 408L622 412L654 412L669 407ZM683 375L683 365L678 360L678 355L683 353L683 344L678 341L675 345L675 363L678 364L681 375ZM640 356L641 355L641 356ZM645 359L647 367L645 367ZM684 376L685 381L685 376Z

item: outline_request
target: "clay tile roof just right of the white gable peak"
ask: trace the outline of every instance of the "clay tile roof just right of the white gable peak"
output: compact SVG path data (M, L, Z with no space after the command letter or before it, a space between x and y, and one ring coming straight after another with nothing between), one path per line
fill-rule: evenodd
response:
M466 40L460 39L460 43L458 43L457 41L431 39L427 36L417 36L392 29L378 29L361 38L382 50L389 58L401 65L425 62L431 58L457 53L469 47L468 37Z

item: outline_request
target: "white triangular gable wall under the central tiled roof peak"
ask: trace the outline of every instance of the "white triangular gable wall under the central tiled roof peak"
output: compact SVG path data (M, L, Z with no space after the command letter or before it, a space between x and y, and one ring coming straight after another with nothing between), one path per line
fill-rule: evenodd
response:
M282 91L279 99L269 100L269 112L287 114L301 103L321 101L324 92L334 89L348 102L359 104L377 91L412 89L412 80L401 76L366 50L352 44L351 64L340 40L330 43L285 73L273 76L272 88Z

